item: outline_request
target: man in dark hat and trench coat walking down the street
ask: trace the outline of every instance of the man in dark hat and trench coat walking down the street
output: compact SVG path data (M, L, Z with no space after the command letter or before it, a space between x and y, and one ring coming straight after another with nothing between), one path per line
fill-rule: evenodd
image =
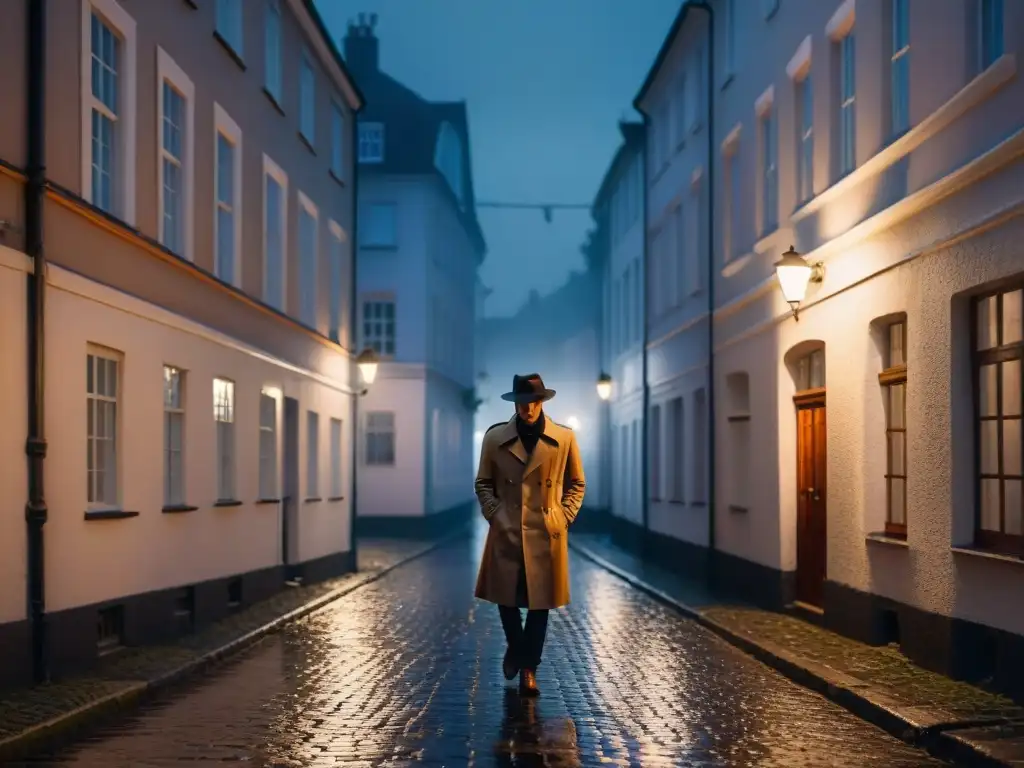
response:
M502 399L515 403L515 416L487 430L476 473L476 498L490 526L476 596L498 604L508 643L502 671L506 680L518 674L519 692L531 696L541 692L536 673L548 610L569 602L566 538L586 484L575 434L544 415L554 396L538 374L513 377Z

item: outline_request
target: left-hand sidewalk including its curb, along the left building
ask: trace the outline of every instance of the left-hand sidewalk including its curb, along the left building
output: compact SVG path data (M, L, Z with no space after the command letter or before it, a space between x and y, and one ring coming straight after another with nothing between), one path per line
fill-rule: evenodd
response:
M0 694L0 764L74 738L103 717L243 650L462 532L434 541L359 540L356 573L285 589L172 646L126 648L88 675Z

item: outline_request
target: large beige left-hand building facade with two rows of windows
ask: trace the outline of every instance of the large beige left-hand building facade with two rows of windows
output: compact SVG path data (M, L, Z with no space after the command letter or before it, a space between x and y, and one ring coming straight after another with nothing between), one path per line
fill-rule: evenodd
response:
M361 96L311 3L6 10L0 679L18 683L34 657L59 675L219 618L283 587L286 566L353 567ZM47 518L41 568L27 499Z

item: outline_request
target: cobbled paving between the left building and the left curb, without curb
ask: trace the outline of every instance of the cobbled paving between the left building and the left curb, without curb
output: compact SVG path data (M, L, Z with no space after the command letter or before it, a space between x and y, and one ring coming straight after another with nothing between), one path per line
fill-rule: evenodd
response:
M282 591L175 646L126 648L101 660L88 676L13 691L0 696L0 742L79 708L126 693L216 650L267 623L348 584L423 551L422 541L371 540L359 544L359 573L348 573L298 589Z

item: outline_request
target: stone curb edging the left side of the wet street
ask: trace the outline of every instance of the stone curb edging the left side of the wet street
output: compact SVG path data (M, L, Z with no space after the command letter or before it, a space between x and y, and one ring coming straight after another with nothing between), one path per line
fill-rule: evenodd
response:
M347 584L336 590L332 590L325 595L310 600L298 608L288 613L278 616L255 630L237 637L230 642L207 651L185 664L164 673L152 680L139 682L126 682L125 687L119 691L109 693L88 703L77 707L69 712L61 713L54 718L30 726L24 731L0 740L0 764L6 764L11 760L19 760L28 757L34 752L44 748L56 748L74 740L77 733L97 724L100 720L114 714L124 712L140 703L145 697L181 682L185 678L195 675L217 662L222 662L230 656L237 655L241 651L255 645L265 637L280 631L285 626L305 618L327 608L331 603L345 597L355 590L366 587L368 584L382 579L392 570L407 565L424 555L447 545L462 536L468 524L460 526L457 530L445 537L437 539L426 545L423 549L413 554L396 560L390 565L386 565L379 570L368 572L364 577L356 577Z

